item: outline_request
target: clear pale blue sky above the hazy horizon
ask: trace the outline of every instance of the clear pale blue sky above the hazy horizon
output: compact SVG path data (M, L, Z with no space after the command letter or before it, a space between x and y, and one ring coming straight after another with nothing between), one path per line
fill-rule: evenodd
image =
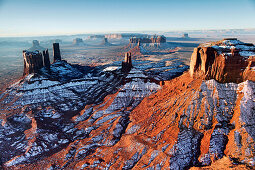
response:
M255 28L255 0L0 0L0 37Z

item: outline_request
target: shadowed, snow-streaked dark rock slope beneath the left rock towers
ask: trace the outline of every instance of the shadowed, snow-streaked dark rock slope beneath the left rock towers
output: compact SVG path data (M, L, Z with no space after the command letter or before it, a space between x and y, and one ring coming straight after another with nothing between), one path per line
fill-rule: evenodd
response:
M1 162L8 168L27 163L38 167L37 161L74 142L78 148L61 157L67 160L64 168L97 148L115 145L129 124L130 111L160 89L157 83L135 68L104 72L65 61L29 74L0 99Z

